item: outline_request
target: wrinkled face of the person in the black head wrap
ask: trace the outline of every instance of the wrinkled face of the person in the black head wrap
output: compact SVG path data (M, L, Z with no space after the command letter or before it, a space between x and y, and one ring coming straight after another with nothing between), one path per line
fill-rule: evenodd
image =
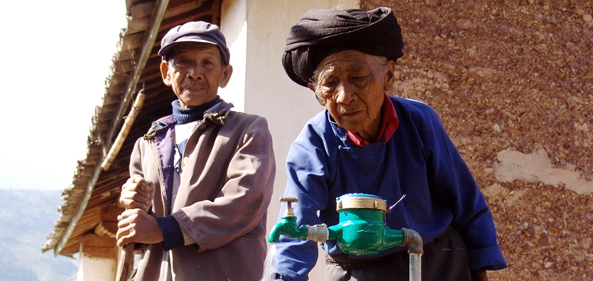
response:
M317 66L317 86L309 84L337 124L365 140L376 140L381 128L384 92L391 88L395 63L384 66L355 50L330 54Z

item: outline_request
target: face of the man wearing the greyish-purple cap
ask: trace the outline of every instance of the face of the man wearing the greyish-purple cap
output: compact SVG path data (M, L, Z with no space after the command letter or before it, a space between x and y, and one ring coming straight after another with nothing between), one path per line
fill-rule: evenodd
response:
M232 66L223 66L218 47L208 43L180 43L161 62L162 81L173 88L181 108L206 104L227 86Z

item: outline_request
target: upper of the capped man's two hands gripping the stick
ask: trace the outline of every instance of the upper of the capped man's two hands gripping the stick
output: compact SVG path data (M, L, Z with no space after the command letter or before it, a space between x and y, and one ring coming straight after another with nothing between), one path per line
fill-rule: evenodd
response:
M141 209L144 212L150 211L152 199L156 188L150 180L145 180L140 175L130 177L122 186L122 194L119 202L126 209Z

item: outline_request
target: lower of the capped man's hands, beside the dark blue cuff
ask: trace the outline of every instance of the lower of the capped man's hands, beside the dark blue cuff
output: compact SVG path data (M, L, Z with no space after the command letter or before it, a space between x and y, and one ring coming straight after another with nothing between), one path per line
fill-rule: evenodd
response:
M129 209L117 216L117 246L131 242L155 244L162 241L157 219L141 209Z

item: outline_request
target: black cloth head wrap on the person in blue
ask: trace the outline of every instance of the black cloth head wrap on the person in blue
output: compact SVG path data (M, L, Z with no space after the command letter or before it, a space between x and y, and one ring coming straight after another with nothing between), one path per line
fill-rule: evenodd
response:
M357 50L396 61L401 49L401 28L390 8L311 9L288 32L282 64L294 82L306 87L331 53Z

